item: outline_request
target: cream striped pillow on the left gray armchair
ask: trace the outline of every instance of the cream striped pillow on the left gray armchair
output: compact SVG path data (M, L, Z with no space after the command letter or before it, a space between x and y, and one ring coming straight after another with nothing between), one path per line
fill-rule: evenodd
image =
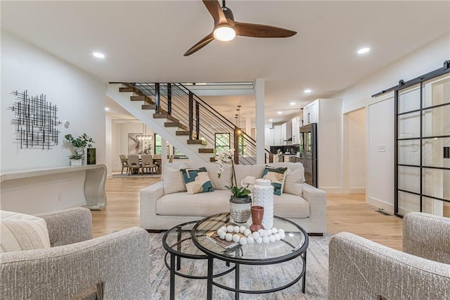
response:
M49 231L43 218L0 211L0 252L50 248Z

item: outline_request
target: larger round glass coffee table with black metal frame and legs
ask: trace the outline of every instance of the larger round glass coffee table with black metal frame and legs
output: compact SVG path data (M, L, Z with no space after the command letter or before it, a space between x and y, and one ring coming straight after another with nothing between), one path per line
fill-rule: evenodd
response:
M285 218L274 216L274 227L283 229L285 231L285 238L273 243L239 244L231 249L224 249L206 237L207 233L218 230L220 227L229 225L230 223L233 222L230 220L229 213L219 213L198 221L191 230L193 244L207 256L207 299L212 299L213 285L235 292L236 299L239 299L240 293L265 294L277 292L295 285L300 279L303 279L302 292L304 293L309 239L307 232L302 227ZM246 225L246 227L249 226ZM214 282L214 278L218 277L217 274L214 275L214 258L225 261L227 264L234 264L234 287ZM288 284L271 289L240 289L240 265L274 265L296 258L302 260L302 270Z

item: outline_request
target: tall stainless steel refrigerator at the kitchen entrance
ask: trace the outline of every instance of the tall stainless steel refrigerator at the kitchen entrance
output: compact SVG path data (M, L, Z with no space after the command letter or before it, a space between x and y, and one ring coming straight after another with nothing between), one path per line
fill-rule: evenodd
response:
M300 163L304 166L304 177L308 185L317 187L317 124L300 127Z

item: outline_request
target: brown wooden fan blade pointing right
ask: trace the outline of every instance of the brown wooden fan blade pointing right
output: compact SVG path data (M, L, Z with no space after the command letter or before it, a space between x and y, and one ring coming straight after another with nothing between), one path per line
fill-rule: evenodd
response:
M236 35L243 37L292 37L297 33L293 30L269 25L240 23L232 20L229 20L229 23L236 30Z

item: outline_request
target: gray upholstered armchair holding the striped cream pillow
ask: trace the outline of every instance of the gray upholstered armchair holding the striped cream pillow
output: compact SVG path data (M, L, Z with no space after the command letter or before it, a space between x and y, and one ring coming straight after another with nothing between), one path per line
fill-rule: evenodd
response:
M150 299L146 230L93 239L89 209L37 216L46 221L51 248L1 253L0 299Z

